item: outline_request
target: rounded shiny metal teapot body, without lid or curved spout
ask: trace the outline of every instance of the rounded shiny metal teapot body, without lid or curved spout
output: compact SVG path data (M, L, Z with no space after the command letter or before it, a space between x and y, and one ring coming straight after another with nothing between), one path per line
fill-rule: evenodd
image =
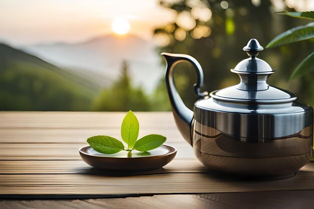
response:
M285 178L309 161L313 109L296 101L251 104L197 101L193 149L211 170Z

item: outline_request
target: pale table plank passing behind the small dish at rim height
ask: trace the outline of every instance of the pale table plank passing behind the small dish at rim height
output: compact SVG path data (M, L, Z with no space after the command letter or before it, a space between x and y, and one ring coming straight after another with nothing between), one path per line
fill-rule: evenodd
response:
M188 143L166 143L177 148L176 158L195 159ZM80 160L79 148L83 144L68 143L1 143L0 160Z

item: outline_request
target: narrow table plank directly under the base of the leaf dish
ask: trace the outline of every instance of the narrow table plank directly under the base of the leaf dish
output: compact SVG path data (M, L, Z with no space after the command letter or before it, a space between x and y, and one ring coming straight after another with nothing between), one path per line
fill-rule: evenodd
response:
M0 174L102 174L146 175L156 173L208 172L197 159L175 159L162 169L113 172L94 169L82 160L8 160L0 161Z

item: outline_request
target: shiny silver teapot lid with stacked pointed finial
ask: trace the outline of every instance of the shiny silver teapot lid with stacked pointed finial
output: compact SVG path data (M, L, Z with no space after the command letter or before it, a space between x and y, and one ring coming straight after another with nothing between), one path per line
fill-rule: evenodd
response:
M231 72L240 77L240 83L210 93L210 96L225 101L276 103L296 100L296 94L267 84L267 78L275 72L265 61L256 58L264 48L256 39L251 39L243 48L250 58L242 60Z

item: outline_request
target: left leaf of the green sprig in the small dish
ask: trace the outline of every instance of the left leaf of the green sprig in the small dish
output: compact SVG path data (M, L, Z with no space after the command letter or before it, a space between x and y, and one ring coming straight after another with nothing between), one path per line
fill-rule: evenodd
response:
M87 139L87 142L97 152L104 154L113 154L124 150L122 142L110 136L92 136Z

